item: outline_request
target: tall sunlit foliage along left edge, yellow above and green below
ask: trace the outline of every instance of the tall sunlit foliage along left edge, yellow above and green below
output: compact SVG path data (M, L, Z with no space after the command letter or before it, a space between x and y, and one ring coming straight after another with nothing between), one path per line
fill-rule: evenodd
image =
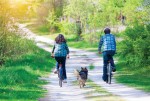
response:
M28 52L31 42L22 40L23 38L16 34L17 29L14 27L15 19L13 17L18 17L13 15L15 12L13 12L14 9L11 9L10 3L9 0L0 1L0 65L7 58L17 58L20 54Z

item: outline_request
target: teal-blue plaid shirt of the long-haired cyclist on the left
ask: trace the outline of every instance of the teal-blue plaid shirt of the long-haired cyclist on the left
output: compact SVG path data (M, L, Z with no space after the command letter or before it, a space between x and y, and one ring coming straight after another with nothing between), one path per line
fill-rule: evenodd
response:
M54 53L55 57L66 57L67 54L69 54L69 48L65 42L59 44L55 43L52 53Z

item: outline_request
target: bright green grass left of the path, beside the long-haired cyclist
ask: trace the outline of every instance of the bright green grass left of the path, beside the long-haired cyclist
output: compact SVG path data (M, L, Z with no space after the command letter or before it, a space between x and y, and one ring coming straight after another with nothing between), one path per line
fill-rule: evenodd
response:
M47 76L53 66L50 54L35 46L19 58L7 60L0 68L0 100L37 101L46 93L42 88L46 82L39 77Z

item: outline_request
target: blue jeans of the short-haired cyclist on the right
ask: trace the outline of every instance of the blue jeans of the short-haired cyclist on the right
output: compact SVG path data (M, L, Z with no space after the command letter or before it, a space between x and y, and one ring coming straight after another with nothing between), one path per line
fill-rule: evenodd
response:
M115 54L115 51L104 51L103 52L103 80L107 81L108 76L107 76L107 64L108 61L110 61L111 66L115 68L113 56Z

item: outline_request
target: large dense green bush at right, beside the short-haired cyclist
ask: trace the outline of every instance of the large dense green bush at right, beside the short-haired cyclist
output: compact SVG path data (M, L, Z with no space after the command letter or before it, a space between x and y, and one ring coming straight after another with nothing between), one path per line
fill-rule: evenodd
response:
M124 41L120 43L120 56L126 64L135 67L150 65L149 25L135 25L124 32Z

